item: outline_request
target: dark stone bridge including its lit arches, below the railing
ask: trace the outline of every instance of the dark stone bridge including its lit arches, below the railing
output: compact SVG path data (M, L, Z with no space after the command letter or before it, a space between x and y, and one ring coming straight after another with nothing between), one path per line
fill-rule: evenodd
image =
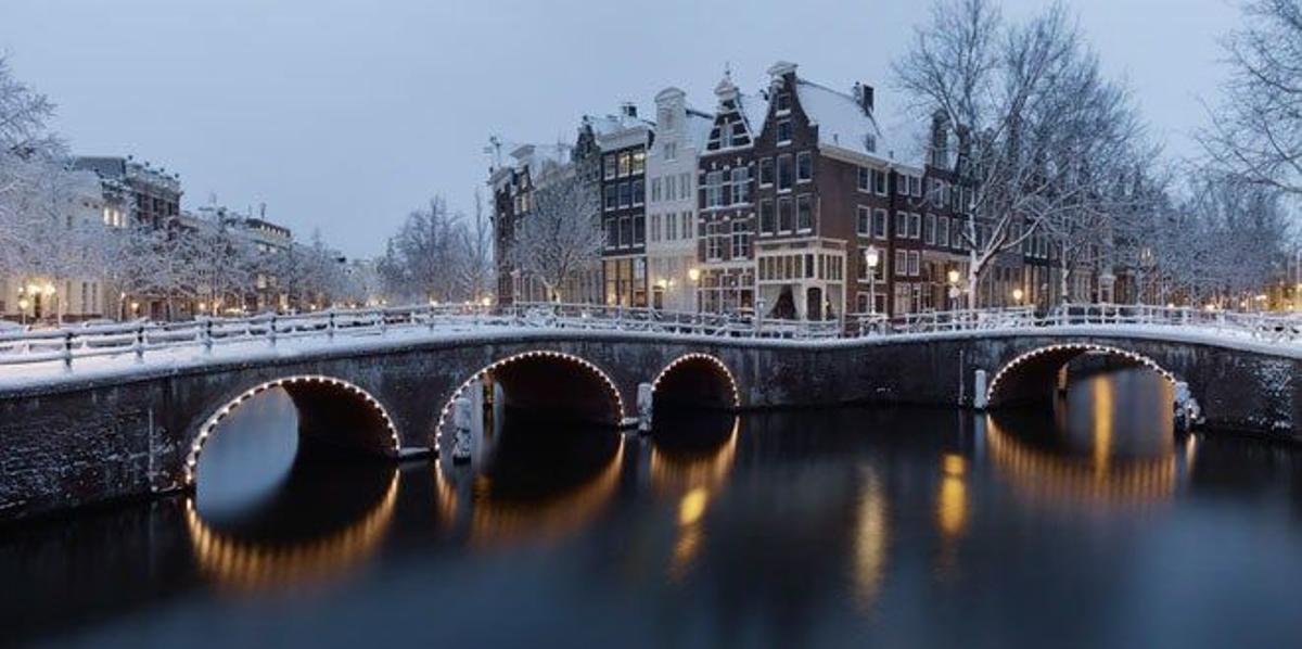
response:
M626 426L638 386L713 408L849 403L1010 407L1104 353L1187 384L1206 425L1294 438L1302 353L1182 330L1059 326L785 340L501 330L268 349L120 373L0 383L0 519L193 485L204 442L241 401L283 387L316 443L396 459L449 448L452 404L491 377L508 405ZM980 371L978 371L980 370ZM984 384L984 387L983 387Z

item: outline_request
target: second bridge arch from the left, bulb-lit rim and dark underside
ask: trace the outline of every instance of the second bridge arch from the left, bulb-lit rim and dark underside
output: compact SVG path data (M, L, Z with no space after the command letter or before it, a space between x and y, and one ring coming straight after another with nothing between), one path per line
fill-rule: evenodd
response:
M570 369L579 370L578 374L572 374L569 377L557 377L548 370L555 368L556 364L561 366L569 366ZM479 369L465 379L452 395L443 404L443 409L439 411L439 421L435 426L435 450L439 448L439 435L444 431L445 426L452 421L452 409L457 403L457 399L466 396L470 392L471 386L478 384L487 377L493 377L504 383L504 391L506 396L516 400L517 403L533 401L534 405L546 405L547 396L555 392L564 392L564 387L574 387L579 394L570 394L569 396L577 396L582 399L582 403L573 404L578 407L583 418L589 418L598 424L609 424L612 426L618 426L624 422L625 408L624 397L620 396L620 388L616 386L611 375L598 368L595 364L565 352L555 352L549 349L535 349L530 352L521 352L505 358L493 361L490 365ZM559 382L547 381L546 383L538 383L538 379L557 379ZM535 396L530 399L526 390L512 390L510 383L523 383L530 379L535 379L534 384L546 384L547 394ZM598 387L603 392L600 404L598 400L591 399L589 394L590 390L583 390L583 383L587 387ZM514 392L514 394L512 394ZM553 404L555 405L555 404Z

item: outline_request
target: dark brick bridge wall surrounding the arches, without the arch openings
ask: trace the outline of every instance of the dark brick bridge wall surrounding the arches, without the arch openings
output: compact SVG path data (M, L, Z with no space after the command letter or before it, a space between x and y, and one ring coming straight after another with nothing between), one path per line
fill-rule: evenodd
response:
M721 360L736 378L742 408L863 401L970 405L976 369L993 378L1012 360L1064 343L1151 358L1189 383L1211 427L1297 435L1294 422L1302 420L1297 358L1138 334L1044 330L829 343L564 331L396 339L368 349L268 352L238 362L219 356L116 379L73 375L0 392L0 519L182 489L186 456L208 417L254 386L293 375L352 383L387 409L401 446L434 447L439 416L462 382L495 361L531 351L591 362L609 375L633 416L638 383L651 382L687 353ZM1035 364L1026 364L1026 371L1035 371ZM358 408L366 407L365 396L357 399Z

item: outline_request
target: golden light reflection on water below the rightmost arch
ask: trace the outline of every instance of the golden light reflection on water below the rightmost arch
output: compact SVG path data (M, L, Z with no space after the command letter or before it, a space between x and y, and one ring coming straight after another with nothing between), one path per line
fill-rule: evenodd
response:
M1169 500L1176 489L1173 454L1124 463L1108 459L1100 469L1096 456L1064 457L1025 444L991 416L986 417L986 440L995 469L1014 495L1027 502L1091 508L1150 506Z

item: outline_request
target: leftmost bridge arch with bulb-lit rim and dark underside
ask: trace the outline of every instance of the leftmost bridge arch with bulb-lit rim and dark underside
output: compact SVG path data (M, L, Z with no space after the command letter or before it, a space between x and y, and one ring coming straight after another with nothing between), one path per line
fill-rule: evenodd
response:
M185 459L185 485L194 486L203 446L240 404L271 388L283 388L298 409L299 435L319 434L323 426L346 429L353 437L348 446L359 447L368 455L397 457L401 448L397 426L388 409L361 387L320 374L296 374L262 382L245 390L216 409L199 426Z

